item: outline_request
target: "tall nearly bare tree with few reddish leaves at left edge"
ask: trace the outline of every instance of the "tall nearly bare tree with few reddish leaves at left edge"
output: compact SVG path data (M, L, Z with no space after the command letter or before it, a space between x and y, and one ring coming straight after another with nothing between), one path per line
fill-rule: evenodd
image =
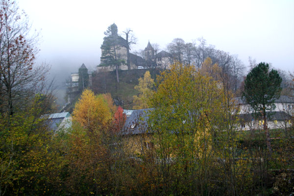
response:
M2 111L13 115L44 80L48 68L35 66L38 35L30 36L25 14L14 1L0 0L0 87Z

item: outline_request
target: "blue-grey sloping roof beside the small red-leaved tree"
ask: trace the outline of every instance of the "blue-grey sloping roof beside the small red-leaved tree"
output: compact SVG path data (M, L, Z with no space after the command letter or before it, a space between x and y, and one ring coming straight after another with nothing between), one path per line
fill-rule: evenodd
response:
M148 112L153 109L134 110L126 119L123 127L123 135L136 135L146 133L148 130Z

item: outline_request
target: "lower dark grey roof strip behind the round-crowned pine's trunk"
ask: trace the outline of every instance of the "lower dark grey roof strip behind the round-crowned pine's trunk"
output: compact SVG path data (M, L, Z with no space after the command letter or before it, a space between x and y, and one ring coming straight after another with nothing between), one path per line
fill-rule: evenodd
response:
M286 112L266 112L267 113L267 119L269 120L289 120L291 119L291 116ZM238 115L239 118L245 122L250 122L252 119L254 119L254 113L243 113ZM262 119L262 116L259 116L255 119Z

